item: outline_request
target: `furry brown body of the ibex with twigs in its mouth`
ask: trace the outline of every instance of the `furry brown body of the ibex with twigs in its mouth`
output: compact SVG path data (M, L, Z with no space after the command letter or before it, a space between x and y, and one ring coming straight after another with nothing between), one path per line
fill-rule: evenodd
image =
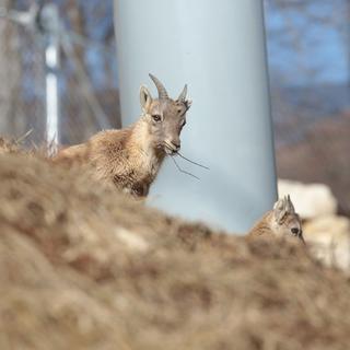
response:
M86 143L60 151L55 160L88 165L96 179L112 182L135 196L147 196L165 156L151 141L147 124L140 120L127 129L101 131Z

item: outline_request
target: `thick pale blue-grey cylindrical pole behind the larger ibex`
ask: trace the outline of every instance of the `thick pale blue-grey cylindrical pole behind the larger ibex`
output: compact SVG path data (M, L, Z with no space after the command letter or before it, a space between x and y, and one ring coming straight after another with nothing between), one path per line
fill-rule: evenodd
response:
M140 115L141 83L155 74L172 96L192 97L178 159L151 188L173 214L245 232L277 197L261 0L116 0L124 126ZM153 89L154 92L154 89Z

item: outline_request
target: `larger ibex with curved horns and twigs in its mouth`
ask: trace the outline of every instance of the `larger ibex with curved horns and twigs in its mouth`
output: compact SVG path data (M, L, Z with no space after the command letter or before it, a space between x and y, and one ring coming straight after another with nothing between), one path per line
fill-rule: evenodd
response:
M96 179L113 183L136 197L147 196L165 155L179 151L179 135L191 105L186 97L187 85L174 101L155 77L150 78L159 97L152 98L141 86L142 115L137 122L121 130L101 131L85 143L61 150L54 161L89 165Z

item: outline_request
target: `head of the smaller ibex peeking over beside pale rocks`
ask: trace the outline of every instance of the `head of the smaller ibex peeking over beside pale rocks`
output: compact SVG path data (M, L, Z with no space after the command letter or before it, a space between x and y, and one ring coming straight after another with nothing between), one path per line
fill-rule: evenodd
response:
M281 237L293 235L304 241L301 219L290 196L279 199L273 206L273 231Z

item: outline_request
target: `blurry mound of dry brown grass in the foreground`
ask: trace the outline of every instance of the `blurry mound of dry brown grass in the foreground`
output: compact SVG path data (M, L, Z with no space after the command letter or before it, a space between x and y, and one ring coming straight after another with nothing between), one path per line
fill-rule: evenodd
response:
M0 155L0 349L347 349L349 281Z

